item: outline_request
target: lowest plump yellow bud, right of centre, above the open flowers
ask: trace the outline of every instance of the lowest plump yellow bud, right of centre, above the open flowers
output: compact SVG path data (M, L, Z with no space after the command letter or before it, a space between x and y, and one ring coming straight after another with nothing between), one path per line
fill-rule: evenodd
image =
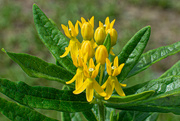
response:
M106 63L106 58L108 58L108 51L104 45L98 46L95 53L96 62L100 64Z

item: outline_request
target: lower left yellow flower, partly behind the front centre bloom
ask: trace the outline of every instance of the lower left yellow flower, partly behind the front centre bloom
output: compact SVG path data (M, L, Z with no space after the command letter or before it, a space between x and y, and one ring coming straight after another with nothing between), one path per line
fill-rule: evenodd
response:
M73 60L75 60L75 58L77 57L73 55L72 58L74 58ZM83 65L86 64L87 62L87 54L83 58L82 52L81 50L79 50L79 56L78 56L78 59L76 60L77 61L74 61L74 65L77 67L76 74L70 81L66 82L66 84L71 84L76 80L75 89L78 89L83 84L83 81L85 79L84 73L83 73Z

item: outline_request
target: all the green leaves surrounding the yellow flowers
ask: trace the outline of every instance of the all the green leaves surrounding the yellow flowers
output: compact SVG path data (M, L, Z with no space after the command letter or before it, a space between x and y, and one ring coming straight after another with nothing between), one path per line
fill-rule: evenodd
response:
M57 64L47 63L35 56L22 53L12 53L2 49L13 61L15 61L25 73L30 77L45 78L63 84L69 81L75 74L76 67L73 65L70 56L60 58L68 46L68 41L56 25L46 17L37 5L33 5L34 22L38 34L54 56ZM133 76L150 65L176 54L180 51L180 42L165 47L160 47L143 53L149 40L151 27L146 26L139 30L123 47L118 55L119 63L125 63L122 73L118 76L118 81L123 82L126 78ZM109 39L108 39L109 38ZM107 36L106 40L110 40ZM107 42L110 43L110 42ZM110 44L105 43L106 48ZM103 100L107 107L123 110L114 113L114 110L105 108L109 111L108 119L113 120L145 120L152 116L152 120L157 119L157 115L152 112L172 112L180 114L179 95L180 95L180 75L179 63L167 70L160 78L148 82L128 87L124 89L127 96L117 96L116 93L109 99ZM107 75L107 73L106 73ZM107 77L105 75L105 77ZM62 120L69 120L73 117L72 112L82 112L84 117L89 120L99 120L96 107L93 103L86 101L85 94L74 95L72 88L68 85L68 90L58 90L43 86L29 86L24 82L12 82L7 79L0 79L0 91L17 103L0 98L0 110L2 114L11 120L55 120L50 119L35 109L48 109L62 111ZM126 111L129 110L129 111ZM139 112L141 111L141 112ZM133 116L133 117L132 117ZM81 120L81 117L78 117Z

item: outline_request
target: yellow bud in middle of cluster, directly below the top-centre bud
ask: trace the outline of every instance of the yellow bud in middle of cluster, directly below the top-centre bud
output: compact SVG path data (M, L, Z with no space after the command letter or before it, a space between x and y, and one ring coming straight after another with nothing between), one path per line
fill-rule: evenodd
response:
M93 58L95 50L90 41L84 40L81 46L81 51L82 51L83 56L85 56L86 53L88 53L87 59L89 60L90 58Z

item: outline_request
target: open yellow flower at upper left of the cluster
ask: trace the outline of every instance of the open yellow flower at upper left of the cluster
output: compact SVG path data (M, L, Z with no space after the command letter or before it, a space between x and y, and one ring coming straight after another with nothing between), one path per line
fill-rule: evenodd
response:
M71 53L71 56L75 55L77 57L78 56L78 49L81 46L80 42L76 39L76 36L79 33L79 31L78 31L78 21L76 22L75 27L74 27L74 25L72 24L71 21L68 21L68 24L69 24L69 29L65 25L63 25L63 24L61 25L63 30L64 30L65 35L68 38L71 39L69 41L68 47L65 48L66 51L64 52L63 55L60 56L61 58L67 56L69 52ZM74 61L75 60L73 60L73 63L74 63Z

